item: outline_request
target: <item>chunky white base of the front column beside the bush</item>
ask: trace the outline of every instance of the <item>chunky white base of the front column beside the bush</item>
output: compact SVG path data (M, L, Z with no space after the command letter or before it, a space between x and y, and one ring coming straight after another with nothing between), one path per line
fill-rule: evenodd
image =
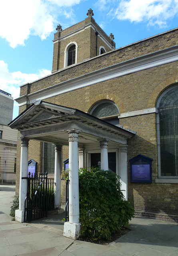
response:
M75 240L80 236L79 232L80 232L80 223L70 223L70 222L64 223L64 233L63 233L64 236Z

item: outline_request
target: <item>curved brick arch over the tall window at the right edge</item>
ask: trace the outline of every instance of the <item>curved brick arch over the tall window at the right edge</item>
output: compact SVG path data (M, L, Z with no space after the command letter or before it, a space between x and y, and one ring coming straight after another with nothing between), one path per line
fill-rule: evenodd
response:
M155 108L156 102L157 102L159 96L162 94L162 92L164 90L166 90L166 88L168 88L176 83L178 83L178 76L172 76L170 78L167 78L160 84L158 84L158 86L156 86L156 88L153 90L152 94L150 95L150 98L148 100L148 105L147 105L148 108Z

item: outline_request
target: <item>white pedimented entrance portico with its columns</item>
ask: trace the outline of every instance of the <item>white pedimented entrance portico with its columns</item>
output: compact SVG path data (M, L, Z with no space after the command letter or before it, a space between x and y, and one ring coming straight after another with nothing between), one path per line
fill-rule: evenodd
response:
M127 199L127 139L134 132L124 130L80 110L36 101L15 118L10 127L20 131L20 206L16 220L24 221L24 200L28 176L28 142L38 140L55 145L55 208L60 208L62 146L69 147L69 222L64 224L64 236L76 239L80 231L78 168L90 167L88 152L100 151L101 169L108 170L108 150L118 150L118 174ZM79 151L79 152L78 152Z

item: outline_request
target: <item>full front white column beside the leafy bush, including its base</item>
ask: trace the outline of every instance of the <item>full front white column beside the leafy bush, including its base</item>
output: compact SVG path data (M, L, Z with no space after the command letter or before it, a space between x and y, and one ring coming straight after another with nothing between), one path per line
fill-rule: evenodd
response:
M64 223L64 236L79 236L78 131L68 131L69 138L69 222Z

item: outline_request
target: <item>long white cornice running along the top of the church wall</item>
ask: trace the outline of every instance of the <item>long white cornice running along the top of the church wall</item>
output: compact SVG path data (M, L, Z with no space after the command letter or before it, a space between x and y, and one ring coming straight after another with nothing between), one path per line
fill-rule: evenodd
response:
M77 90L79 88L84 88L92 84L104 82L113 78L132 74L134 72L153 68L163 64L168 64L174 61L178 61L178 46L172 46L168 49L160 50L158 52L147 54L138 58L134 58L132 60L127 60L113 66L102 68L101 70L96 70L92 73L73 78L60 84L55 84L48 88L29 94L28 98L31 104L39 99L45 100L47 98L51 98L65 92L71 92L72 90ZM60 72L62 71L58 72L59 75ZM19 103L19 106L23 106L24 104L26 104L26 97L21 96L20 98L17 98L16 101Z

